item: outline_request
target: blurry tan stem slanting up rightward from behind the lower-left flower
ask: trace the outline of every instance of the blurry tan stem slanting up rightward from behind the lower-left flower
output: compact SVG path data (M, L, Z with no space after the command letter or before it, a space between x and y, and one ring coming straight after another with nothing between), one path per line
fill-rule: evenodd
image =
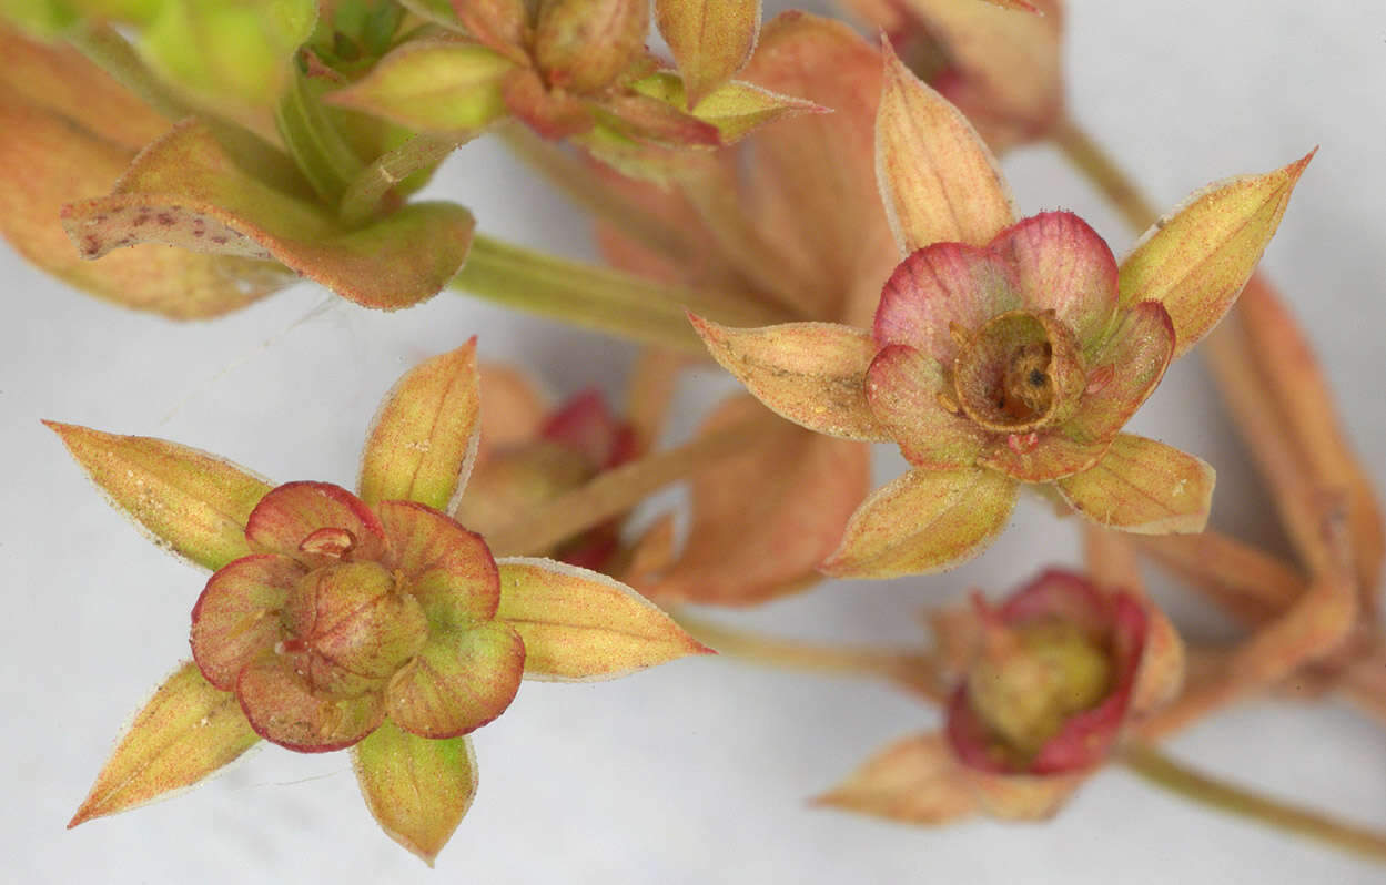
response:
M585 486L552 499L486 536L496 555L542 554L574 535L631 510L650 493L728 456L740 454L779 418L757 414L658 454L599 474Z

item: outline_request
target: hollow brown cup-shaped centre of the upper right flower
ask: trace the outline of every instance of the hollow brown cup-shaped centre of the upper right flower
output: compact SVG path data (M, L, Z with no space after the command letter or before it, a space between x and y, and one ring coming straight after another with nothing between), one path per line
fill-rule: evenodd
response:
M1023 433L1069 418L1078 406L1085 367L1073 332L1052 310L1012 310L969 335L960 346L954 386L963 411L987 429Z

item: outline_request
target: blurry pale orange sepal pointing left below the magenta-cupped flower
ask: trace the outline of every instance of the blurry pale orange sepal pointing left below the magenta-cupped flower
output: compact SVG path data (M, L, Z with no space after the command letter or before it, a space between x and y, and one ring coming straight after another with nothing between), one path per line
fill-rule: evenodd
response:
M814 799L906 824L947 824L977 813L977 799L941 734L895 741Z

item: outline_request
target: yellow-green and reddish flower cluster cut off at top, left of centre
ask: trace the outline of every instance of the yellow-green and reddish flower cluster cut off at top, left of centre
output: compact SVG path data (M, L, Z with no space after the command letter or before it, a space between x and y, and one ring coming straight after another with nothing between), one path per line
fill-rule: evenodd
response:
M421 132L462 136L513 115L546 138L581 144L661 176L642 148L729 144L814 105L732 80L760 14L663 0L660 28L685 76L644 46L647 0L456 0L407 4L444 30L409 40L331 101ZM725 50L725 51L723 51Z

